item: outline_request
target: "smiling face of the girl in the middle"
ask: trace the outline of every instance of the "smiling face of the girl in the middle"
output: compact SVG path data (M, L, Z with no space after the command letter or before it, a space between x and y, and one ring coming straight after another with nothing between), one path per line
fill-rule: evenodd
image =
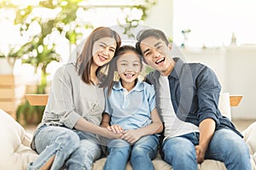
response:
M141 61L137 54L127 51L117 59L117 69L122 82L135 82L141 71Z

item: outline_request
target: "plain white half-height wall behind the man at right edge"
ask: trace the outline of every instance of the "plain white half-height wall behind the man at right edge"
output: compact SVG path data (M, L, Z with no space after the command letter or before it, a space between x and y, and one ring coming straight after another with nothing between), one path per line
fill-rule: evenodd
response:
M227 48L226 82L231 94L242 94L234 118L256 118L256 46Z

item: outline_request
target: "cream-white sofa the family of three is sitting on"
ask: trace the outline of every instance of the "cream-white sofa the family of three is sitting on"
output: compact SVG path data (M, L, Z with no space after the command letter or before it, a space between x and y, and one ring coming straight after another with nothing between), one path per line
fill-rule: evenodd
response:
M224 94L219 100L219 108L225 116L230 117L229 95ZM231 117L230 117L231 118ZM252 156L252 167L256 170L256 122L242 132ZM8 113L0 109L0 169L2 170L25 170L28 162L35 160L38 154L30 148L32 134L26 133L25 129L15 122ZM254 159L254 161L253 161ZM93 170L102 170L106 158L96 161ZM154 168L170 170L172 167L162 161L158 155L154 161ZM224 163L220 161L206 160L198 165L201 170L224 170ZM126 170L131 170L130 163Z

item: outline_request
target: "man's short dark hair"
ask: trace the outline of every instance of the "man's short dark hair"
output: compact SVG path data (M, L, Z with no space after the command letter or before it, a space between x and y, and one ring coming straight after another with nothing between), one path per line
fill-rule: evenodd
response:
M139 31L137 34L137 43L136 43L136 48L139 54L143 55L142 49L140 47L141 42L146 39L147 37L155 37L157 39L161 39L164 42L166 42L166 45L168 46L169 41L166 37L166 34L163 31L157 30L157 29L147 29L147 30L142 30Z

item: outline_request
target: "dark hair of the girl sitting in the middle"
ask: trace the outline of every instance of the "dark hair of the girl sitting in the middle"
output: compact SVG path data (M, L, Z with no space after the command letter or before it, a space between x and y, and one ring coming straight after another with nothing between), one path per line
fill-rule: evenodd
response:
M133 52L134 54L137 54L138 58L140 59L141 70L143 69L143 59L142 59L141 54L138 53L137 48L132 47L131 45L124 45L124 46L120 47L116 53L117 56L109 62L108 80L106 81L106 82L108 82L108 84L110 84L108 87L108 95L111 94L111 90L113 88L114 72L118 70L117 69L117 60L119 59L119 57L121 55L123 55L129 51Z

